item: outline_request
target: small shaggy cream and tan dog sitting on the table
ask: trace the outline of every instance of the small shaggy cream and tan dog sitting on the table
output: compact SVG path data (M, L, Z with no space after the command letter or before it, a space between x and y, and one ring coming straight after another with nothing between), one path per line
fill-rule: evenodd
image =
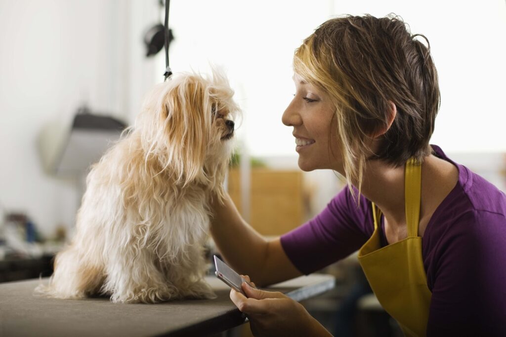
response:
M203 280L209 199L222 199L239 111L226 77L175 74L155 86L134 127L97 163L71 244L49 285L62 299L214 298Z

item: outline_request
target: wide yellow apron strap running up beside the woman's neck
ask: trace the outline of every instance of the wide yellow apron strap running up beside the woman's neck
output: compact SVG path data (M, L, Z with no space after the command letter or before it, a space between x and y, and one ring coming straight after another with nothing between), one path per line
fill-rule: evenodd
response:
M404 172L404 204L408 237L418 236L420 221L421 165L408 159Z

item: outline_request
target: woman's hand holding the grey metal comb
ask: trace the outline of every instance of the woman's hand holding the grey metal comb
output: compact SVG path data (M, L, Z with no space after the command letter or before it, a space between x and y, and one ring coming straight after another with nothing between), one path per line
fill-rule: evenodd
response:
M248 276L243 276L249 282ZM298 302L279 292L266 292L242 282L247 297L232 290L230 299L249 318L255 336L330 336Z

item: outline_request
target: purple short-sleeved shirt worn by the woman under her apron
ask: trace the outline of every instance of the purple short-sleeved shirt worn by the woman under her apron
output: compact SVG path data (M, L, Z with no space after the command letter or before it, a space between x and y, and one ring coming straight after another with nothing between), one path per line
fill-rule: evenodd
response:
M432 215L422 238L432 292L427 335L506 336L506 195L467 167ZM314 219L281 236L291 262L304 274L362 247L374 229L371 203L360 207L345 187ZM381 225L383 244L384 224Z

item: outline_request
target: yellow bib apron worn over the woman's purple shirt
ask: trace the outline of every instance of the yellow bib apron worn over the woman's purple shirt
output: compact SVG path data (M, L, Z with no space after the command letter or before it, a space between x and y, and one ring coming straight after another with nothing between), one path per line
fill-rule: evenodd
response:
M358 252L374 295L406 336L426 335L432 295L427 287L418 236L420 183L421 166L409 159L404 173L407 238L381 247L378 226L381 211L373 203L374 232Z

